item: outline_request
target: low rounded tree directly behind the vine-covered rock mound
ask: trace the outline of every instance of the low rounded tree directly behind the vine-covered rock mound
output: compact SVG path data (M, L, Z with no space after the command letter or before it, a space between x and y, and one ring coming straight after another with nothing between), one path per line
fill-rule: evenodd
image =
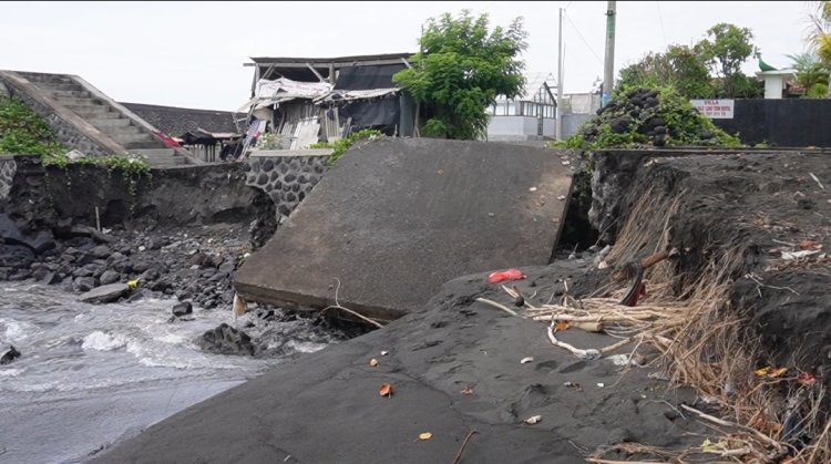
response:
M687 99L715 96L707 64L687 45L670 45L664 53L650 52L619 73L618 86L667 85Z

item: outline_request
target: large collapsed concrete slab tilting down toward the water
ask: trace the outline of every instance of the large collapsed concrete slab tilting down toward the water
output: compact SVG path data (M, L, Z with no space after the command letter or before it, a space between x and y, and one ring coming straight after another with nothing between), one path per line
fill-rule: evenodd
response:
M391 320L458 276L545 265L572 177L551 149L392 138L352 148L235 276L245 298ZM557 199L565 197L565 199Z

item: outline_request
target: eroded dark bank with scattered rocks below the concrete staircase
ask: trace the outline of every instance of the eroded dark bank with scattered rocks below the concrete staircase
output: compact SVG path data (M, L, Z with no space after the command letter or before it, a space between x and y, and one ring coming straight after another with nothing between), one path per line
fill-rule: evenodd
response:
M130 173L2 159L0 280L69 291L137 279L136 292L229 308L230 276L276 226L242 164Z

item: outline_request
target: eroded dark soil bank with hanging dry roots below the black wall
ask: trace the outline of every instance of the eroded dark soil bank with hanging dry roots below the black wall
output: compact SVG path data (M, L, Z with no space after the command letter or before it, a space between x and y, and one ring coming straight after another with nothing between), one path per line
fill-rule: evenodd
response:
M615 246L588 281L677 248L678 260L645 276L655 305L687 312L668 338L648 340L668 371L767 436L752 453L827 462L831 168L817 153L683 155L596 155L592 218Z

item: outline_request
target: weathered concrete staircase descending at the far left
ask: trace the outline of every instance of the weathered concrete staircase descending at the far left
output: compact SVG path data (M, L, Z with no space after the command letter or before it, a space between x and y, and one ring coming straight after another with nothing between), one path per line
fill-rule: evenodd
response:
M174 167L188 163L189 157L184 149L167 147L161 138L153 135L150 124L96 90L86 87L78 78L66 74L14 73L29 81L54 104L73 112L101 131L123 148L121 153L143 155L152 167Z

